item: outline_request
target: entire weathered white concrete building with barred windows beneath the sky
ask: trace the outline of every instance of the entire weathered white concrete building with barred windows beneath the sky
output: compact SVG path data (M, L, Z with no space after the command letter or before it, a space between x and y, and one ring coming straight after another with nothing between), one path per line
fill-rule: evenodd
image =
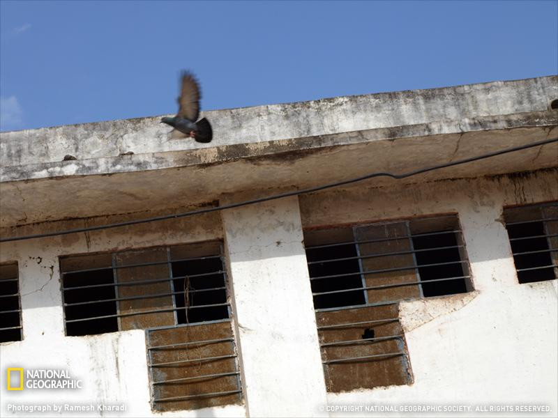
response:
M556 139L557 100L208 111L211 144L158 117L3 132L0 415L555 416L557 142L134 222Z

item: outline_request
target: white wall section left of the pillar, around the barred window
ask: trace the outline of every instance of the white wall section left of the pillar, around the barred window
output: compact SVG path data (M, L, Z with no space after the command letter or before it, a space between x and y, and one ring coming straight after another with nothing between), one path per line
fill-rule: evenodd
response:
M114 219L97 219L110 222ZM66 225L68 226L68 225ZM75 224L73 227L77 226ZM63 226L64 227L64 226ZM56 238L13 242L0 247L0 262L18 261L22 303L23 341L0 344L0 416L17 415L7 410L9 403L126 404L126 412L79 413L66 416L122 417L243 417L243 405L203 410L151 412L149 376L143 330L112 332L94 336L65 336L61 307L58 256L114 251L130 247L173 245L183 242L223 238L220 217L179 219L156 228L144 224L123 229L66 235ZM6 368L66 369L84 380L83 389L6 390ZM56 415L48 412L46 417ZM41 415L39 415L41 416Z

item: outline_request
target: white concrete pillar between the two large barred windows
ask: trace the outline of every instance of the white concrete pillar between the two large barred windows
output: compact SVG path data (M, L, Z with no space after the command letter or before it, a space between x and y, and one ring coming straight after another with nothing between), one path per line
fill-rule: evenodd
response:
M248 416L326 416L299 201L223 212Z

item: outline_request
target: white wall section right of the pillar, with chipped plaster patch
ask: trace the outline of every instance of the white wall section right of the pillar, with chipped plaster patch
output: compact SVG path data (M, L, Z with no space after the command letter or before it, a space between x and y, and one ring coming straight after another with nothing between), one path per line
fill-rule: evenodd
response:
M465 416L488 416L475 413L474 405L549 405L548 416L555 417L557 281L518 284L501 219L503 206L557 199L555 171L391 189L353 187L302 197L306 227L457 212L475 288L465 295L400 304L412 385L328 394L329 405L472 406ZM451 414L439 416L447 415ZM534 416L532 412L513 416L521 415ZM375 412L375 416L430 417L432 412Z

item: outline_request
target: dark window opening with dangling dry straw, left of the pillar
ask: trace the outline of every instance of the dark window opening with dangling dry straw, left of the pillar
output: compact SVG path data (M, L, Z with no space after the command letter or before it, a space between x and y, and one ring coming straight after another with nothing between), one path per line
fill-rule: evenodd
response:
M174 279L174 291L181 292L174 295L179 324L229 318L221 258L176 261L172 263L172 276L179 277ZM184 309L186 304L188 309Z

